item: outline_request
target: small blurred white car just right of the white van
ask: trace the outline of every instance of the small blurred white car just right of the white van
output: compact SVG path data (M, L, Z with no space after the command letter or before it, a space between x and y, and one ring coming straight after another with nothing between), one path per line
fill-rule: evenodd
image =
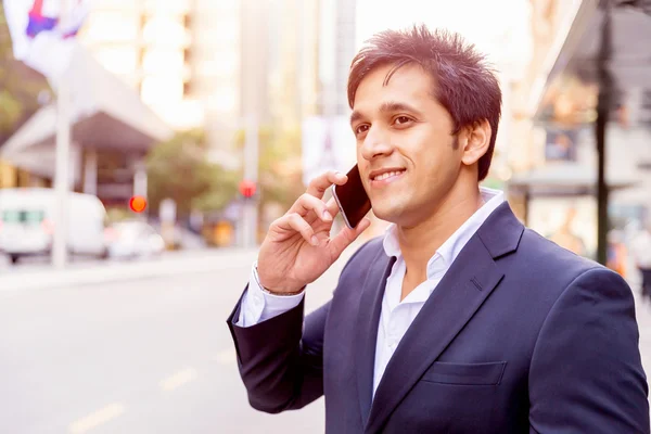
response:
M145 221L118 221L106 228L105 239L112 258L151 257L165 251L163 237Z

